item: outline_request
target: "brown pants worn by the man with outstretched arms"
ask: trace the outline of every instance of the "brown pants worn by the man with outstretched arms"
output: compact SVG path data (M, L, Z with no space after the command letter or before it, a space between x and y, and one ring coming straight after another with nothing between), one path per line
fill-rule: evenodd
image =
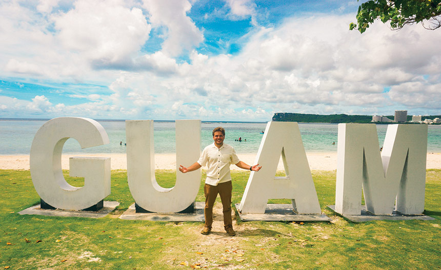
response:
M224 227L227 230L228 227L233 227L233 220L231 218L231 192L233 185L231 181L219 183L216 186L205 184L205 226L211 229L213 224L213 205L219 193L220 201L222 201L222 207L224 212Z

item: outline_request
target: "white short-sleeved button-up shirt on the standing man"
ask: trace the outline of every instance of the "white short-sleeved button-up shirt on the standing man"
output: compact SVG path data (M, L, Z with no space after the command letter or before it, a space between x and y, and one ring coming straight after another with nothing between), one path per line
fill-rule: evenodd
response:
M208 167L205 183L217 185L231 181L230 164L237 164L239 161L232 146L224 143L222 147L217 148L213 142L202 151L197 163Z

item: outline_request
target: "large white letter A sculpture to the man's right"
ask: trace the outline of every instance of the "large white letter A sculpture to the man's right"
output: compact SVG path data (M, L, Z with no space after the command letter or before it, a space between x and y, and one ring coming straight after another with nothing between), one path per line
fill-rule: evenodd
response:
M286 177L274 177L280 153ZM268 122L256 159L262 169L251 172L240 212L264 214L268 199L291 199L298 214L321 213L296 122Z

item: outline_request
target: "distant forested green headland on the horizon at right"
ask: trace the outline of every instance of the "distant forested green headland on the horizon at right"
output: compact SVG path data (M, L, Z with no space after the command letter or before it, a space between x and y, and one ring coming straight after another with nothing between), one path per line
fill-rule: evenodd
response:
M393 115L384 115L393 120ZM424 119L441 118L440 115L422 116ZM372 115L347 115L347 114L303 114L303 113L275 113L273 121L282 122L302 122L302 123L370 123ZM412 120L412 115L407 116L407 120ZM387 122L386 122L387 123ZM390 123L390 122L389 122Z

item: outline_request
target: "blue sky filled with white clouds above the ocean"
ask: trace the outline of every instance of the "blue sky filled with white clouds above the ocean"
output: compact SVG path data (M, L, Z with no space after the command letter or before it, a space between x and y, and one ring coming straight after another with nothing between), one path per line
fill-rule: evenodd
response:
M356 1L0 1L0 117L441 114L439 31Z

